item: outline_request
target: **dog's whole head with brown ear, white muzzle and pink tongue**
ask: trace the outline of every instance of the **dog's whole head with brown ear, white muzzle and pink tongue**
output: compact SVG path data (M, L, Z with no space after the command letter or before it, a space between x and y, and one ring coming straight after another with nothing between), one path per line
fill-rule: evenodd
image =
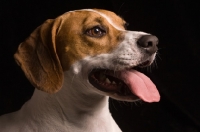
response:
M115 99L158 101L155 85L134 70L154 61L158 39L125 30L126 22L113 12L83 9L47 20L20 44L15 54L27 78L49 93L60 90L64 72L73 73L85 87Z

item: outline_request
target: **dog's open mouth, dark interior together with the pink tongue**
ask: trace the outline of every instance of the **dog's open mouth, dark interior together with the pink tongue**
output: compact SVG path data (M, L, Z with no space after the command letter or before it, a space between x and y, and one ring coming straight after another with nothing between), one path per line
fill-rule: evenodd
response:
M145 61L138 67L150 65ZM160 95L153 82L134 68L121 71L94 69L89 74L89 82L97 89L122 97L140 98L146 102L157 102Z

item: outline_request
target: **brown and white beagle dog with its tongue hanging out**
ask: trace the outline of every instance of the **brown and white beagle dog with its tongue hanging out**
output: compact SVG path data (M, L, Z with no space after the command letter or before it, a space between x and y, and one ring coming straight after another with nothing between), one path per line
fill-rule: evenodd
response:
M150 66L158 38L128 31L100 9L69 11L39 26L14 58L36 88L22 108L0 117L1 132L121 132L108 97L158 102Z

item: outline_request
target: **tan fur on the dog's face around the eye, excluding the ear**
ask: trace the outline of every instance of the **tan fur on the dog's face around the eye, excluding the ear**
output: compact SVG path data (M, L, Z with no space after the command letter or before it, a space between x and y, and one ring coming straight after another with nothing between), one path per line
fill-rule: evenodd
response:
M68 70L70 66L86 56L95 56L109 53L115 49L124 37L125 21L113 12L106 10L96 10L108 17L109 22L99 13L87 10L68 12L57 19L62 19L57 31L56 48L63 70ZM101 26L106 30L106 34L100 38L91 37L85 34L86 30Z

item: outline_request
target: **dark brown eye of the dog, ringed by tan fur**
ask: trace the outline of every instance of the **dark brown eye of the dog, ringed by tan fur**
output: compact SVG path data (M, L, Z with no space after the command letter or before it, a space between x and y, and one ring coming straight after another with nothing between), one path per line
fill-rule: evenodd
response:
M96 26L96 27L93 27L93 28L87 30L86 34L91 37L100 38L106 34L106 31L103 30L102 28Z

